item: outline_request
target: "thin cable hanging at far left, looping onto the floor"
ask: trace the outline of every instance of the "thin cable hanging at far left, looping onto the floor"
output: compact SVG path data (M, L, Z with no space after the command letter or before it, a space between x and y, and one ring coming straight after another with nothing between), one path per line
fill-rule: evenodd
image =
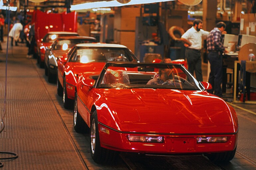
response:
M8 46L9 46L9 28L10 28L10 3L9 1L7 0L7 4L8 4L8 32L7 32L7 46L6 46L6 61L5 61L5 88L4 88L4 110L3 110L3 116L1 117L1 129L0 129L0 134L1 132L4 130L5 128L5 123L4 123L4 117L5 117L5 114L6 114L6 110L5 110L5 107L6 107L6 88L7 88L7 59L8 59ZM16 159L18 157L18 154L17 153L14 153L14 152L7 152L7 151L0 151L0 154L1 153L4 153L4 154L11 154L11 155L14 155L12 157L3 157L0 159L2 160L6 160L6 159ZM3 167L4 164L2 162L0 162L0 167Z

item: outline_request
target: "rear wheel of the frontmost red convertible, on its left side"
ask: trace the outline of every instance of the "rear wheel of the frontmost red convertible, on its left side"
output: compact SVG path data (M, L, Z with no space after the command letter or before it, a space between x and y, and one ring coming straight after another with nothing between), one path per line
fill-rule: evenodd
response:
M84 122L80 113L78 112L77 93L75 93L75 99L74 99L73 125L74 125L75 132L77 132L77 133L88 133L89 132L89 127L86 125L86 123Z

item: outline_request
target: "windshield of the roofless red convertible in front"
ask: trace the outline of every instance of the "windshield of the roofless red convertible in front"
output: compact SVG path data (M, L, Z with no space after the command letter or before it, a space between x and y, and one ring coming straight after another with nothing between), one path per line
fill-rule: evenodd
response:
M147 65L148 64L148 65ZM149 64L125 67L109 66L99 77L99 88L166 88L202 90L202 86L179 64Z

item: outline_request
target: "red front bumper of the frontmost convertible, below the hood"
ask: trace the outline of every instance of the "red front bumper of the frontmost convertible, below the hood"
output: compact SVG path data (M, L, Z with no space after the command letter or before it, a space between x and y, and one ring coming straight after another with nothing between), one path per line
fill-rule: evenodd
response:
M227 136L228 140L224 143L197 143L196 137L204 135L156 135L164 137L163 143L152 142L130 142L127 139L129 135L152 136L150 134L120 133L113 129L107 128L102 124L98 127L106 128L109 134L99 130L101 146L111 150L138 152L143 154L196 154L211 152L232 151L237 144L238 134L230 135L210 135L213 137ZM207 135L209 136L209 135Z

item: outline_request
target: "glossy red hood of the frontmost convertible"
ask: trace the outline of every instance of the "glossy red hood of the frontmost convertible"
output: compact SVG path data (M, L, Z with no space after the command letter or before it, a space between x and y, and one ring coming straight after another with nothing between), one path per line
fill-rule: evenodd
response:
M115 111L113 116L118 120L115 129L120 131L181 134L236 131L229 106L207 92L104 89L101 96L108 108Z

